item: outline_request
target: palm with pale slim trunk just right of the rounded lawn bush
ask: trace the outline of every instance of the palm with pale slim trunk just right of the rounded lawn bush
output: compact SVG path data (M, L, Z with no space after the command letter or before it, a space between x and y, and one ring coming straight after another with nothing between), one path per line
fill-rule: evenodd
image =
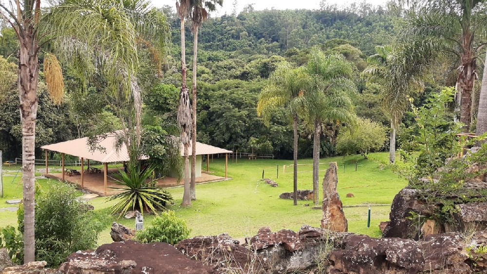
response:
M411 40L401 47L377 46L375 51L367 58L362 76L382 89L382 106L391 118L389 162L394 163L396 130L410 104L409 97L423 89L440 53L438 43L431 39Z

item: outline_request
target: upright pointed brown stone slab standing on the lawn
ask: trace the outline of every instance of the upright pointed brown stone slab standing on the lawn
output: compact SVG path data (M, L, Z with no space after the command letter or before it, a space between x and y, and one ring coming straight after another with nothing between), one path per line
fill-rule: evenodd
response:
M338 232L348 231L348 222L343 213L343 204L337 193L337 163L330 163L323 178L323 219L321 228Z

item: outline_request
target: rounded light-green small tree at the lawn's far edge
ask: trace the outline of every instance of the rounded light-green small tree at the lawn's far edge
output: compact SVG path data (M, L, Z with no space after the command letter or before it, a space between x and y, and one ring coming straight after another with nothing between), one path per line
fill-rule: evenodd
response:
M386 142L386 129L369 119L357 118L356 127L346 127L337 138L340 154L359 153L368 159L371 151L379 150Z

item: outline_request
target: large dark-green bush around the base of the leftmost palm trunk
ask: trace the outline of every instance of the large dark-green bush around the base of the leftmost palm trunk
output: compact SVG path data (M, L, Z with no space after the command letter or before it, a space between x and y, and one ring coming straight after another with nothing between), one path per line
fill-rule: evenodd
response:
M56 267L68 255L96 247L98 235L112 219L108 210L88 210L78 198L76 189L59 181L52 181L48 192L36 197L36 260ZM19 208L19 229L2 230L0 245L7 248L16 263L23 259L23 210Z

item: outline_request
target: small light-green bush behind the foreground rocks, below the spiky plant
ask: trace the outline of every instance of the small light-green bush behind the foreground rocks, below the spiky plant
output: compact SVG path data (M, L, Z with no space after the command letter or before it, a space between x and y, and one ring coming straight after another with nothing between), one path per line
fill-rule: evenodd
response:
M185 220L168 211L156 216L146 229L137 231L135 239L142 243L165 242L173 245L186 239L189 232Z

